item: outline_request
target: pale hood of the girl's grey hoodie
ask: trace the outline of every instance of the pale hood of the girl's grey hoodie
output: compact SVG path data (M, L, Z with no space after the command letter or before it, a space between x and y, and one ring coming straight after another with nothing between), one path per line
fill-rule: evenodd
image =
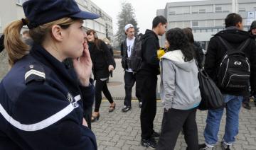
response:
M183 58L184 55L181 52L181 50L174 50L166 52L166 54L164 54L164 56L161 57L161 61L164 59L168 59L172 63L174 63L176 67L183 69L185 71L192 71L193 67L191 67L191 65L194 62L194 59L189 62L185 62Z

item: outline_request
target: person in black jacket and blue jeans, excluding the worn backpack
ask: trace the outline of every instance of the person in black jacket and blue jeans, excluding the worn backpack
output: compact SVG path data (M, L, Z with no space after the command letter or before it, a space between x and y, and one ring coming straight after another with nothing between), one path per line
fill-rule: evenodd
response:
M220 63L223 60L227 50L219 37L226 40L234 49L239 47L242 42L250 39L247 47L243 50L245 57L250 61L250 86L252 91L255 91L256 85L256 47L255 41L250 35L243 31L242 18L239 14L230 13L225 18L225 30L220 31L210 39L208 51L206 54L205 69L209 76L218 83L218 70ZM248 81L249 82L249 81ZM244 87L244 86L243 86ZM220 87L219 87L220 88ZM227 88L220 88L223 93L225 108L226 108L226 125L225 134L221 145L223 149L230 149L235 142L235 136L238 134L239 112L242 105L242 98L249 94L249 85L245 86L241 91L227 91ZM205 144L201 144L201 149L213 149L214 144L218 142L218 131L220 127L220 120L223 115L224 108L217 110L208 110L206 120L206 129L204 131Z

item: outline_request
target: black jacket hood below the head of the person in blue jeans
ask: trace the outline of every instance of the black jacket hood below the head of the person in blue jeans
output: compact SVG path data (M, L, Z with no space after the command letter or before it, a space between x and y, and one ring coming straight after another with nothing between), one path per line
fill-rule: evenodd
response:
M239 30L238 28L229 28L229 29L227 28L227 30L222 30L222 31L218 32L217 34L215 34L215 36L216 35L223 37L223 39L230 42L230 44L241 43L241 42L247 40L248 37L250 37L250 35L247 32L245 32L243 30Z

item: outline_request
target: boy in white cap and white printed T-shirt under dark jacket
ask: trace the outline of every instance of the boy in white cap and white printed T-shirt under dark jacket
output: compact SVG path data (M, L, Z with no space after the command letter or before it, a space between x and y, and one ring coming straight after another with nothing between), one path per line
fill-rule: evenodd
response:
M134 36L134 26L132 24L127 24L124 27L125 35L127 38L121 44L121 55L122 55L122 67L124 68L124 89L125 89L125 98L124 98L124 107L122 112L127 112L132 109L132 87L136 81L136 74L129 65L129 59L132 52L135 50L134 45L137 42L137 37ZM138 88L136 88L138 89ZM139 91L136 91L136 96L139 100L139 108L142 107L142 100L139 96Z

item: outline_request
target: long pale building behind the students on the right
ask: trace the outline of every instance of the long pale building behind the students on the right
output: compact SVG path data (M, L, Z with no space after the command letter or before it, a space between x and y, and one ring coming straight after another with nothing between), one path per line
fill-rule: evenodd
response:
M238 5L232 5L232 1L237 1ZM256 0L171 2L156 13L167 18L169 29L192 28L195 40L207 46L210 37L225 28L224 20L228 13L233 13L236 9L242 16L244 30L248 30L250 23L256 20ZM160 38L161 46L164 45L164 40L164 36Z

